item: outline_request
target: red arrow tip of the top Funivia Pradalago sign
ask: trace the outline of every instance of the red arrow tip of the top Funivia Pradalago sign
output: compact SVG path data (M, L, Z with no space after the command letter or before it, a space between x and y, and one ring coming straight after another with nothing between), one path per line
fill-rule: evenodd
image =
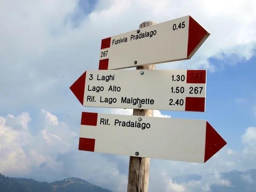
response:
M189 41L187 57L191 58L197 49L209 37L209 33L191 16L189 16Z

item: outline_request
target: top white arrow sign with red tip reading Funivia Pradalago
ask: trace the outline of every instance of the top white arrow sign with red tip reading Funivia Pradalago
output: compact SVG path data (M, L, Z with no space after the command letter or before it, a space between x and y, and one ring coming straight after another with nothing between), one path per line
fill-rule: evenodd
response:
M190 59L209 37L191 16L102 39L99 70Z

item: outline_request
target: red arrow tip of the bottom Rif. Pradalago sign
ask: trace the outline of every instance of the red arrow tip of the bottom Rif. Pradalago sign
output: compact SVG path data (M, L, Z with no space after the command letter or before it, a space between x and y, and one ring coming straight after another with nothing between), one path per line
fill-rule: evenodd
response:
M206 122L206 138L205 138L205 152L204 163L223 148L227 142L215 131L209 122Z

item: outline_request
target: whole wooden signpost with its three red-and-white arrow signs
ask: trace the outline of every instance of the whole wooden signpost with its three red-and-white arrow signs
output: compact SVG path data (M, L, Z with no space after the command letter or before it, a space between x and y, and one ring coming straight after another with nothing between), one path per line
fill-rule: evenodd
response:
M205 163L227 142L206 120L152 117L153 109L205 112L206 70L155 70L190 59L209 32L191 16L102 39L99 70L70 90L86 107L131 108L133 116L82 113L79 150L130 156L128 192L147 192L150 158ZM136 67L137 70L115 70Z

